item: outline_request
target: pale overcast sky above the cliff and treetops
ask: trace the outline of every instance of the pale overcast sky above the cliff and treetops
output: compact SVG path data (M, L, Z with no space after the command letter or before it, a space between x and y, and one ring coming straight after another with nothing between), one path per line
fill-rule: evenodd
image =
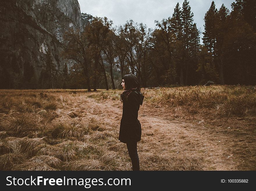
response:
M155 20L172 17L174 8L179 3L182 8L184 0L78 0L81 13L98 17L107 17L113 25L119 26L132 19L134 22L146 24L155 28ZM216 8L222 4L230 11L231 3L235 0L214 0ZM204 17L209 10L212 0L190 0L189 5L194 13L197 28L204 31ZM202 34L200 35L202 37ZM201 40L202 41L202 40Z

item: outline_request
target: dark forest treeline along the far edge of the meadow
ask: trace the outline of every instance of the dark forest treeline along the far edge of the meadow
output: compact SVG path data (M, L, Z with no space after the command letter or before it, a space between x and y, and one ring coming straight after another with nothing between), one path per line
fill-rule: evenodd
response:
M224 4L216 9L212 1L204 17L203 44L187 0L177 3L172 17L156 20L155 29L133 20L113 27L106 17L91 17L82 31L65 33L63 70L56 70L48 53L38 88L116 89L129 73L142 87L209 80L255 85L256 3L236 0L231 6L231 12Z

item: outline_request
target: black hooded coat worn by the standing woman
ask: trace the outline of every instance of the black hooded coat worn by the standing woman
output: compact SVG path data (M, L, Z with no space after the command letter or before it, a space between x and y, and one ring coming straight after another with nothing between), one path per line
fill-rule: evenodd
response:
M123 113L120 122L119 138L123 143L141 140L141 123L138 120L138 110L144 96L138 91L132 91L127 100L123 100Z

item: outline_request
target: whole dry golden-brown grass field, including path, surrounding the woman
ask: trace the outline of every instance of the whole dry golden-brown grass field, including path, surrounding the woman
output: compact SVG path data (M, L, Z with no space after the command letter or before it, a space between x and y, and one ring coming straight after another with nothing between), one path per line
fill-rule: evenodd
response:
M131 170L122 91L0 90L0 170ZM141 92L141 170L256 170L254 86Z

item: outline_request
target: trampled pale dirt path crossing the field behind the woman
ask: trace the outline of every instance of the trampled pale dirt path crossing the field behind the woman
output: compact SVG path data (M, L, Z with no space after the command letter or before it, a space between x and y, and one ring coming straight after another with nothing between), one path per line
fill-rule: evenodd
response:
M100 102L93 98L88 98L88 101L115 124L118 133L121 103L112 100ZM139 110L138 115L142 126L142 139L138 143L142 168L143 164L152 163L152 169L162 170L237 170L239 164L234 162L235 156L227 147L225 135L199 125L151 116L143 113L145 109Z

